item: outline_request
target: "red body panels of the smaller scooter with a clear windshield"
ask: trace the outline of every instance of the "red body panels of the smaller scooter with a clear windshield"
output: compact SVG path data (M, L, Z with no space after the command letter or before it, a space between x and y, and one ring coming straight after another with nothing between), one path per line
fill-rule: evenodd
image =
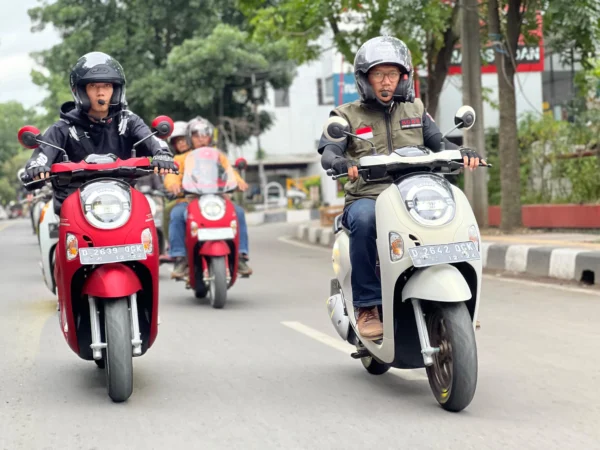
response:
M229 200L229 198L225 195L221 197L223 200L225 200L225 215L219 220L208 220L202 215L198 198L191 199L188 203L185 242L188 255L188 275L192 288L196 287L196 255L198 255L200 261L202 261L203 271L208 268L208 259L211 257L226 256L227 267L229 268L231 275L229 287L233 286L237 279L238 249L240 245L240 236L237 225L238 220L235 213L235 207L231 200ZM219 241L199 241L197 236L192 235L192 222L195 222L198 225L198 230L202 230L207 228L232 228L231 224L233 221L236 223L233 239Z

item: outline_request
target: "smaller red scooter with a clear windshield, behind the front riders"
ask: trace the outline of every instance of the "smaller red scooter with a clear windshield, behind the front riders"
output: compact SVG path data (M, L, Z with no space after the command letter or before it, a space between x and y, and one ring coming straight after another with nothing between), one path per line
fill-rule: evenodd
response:
M236 161L239 170L245 166L244 159ZM233 168L215 148L192 150L184 161L182 189L188 198L187 288L197 298L208 295L213 308L223 308L238 270L237 215L225 195L237 189Z

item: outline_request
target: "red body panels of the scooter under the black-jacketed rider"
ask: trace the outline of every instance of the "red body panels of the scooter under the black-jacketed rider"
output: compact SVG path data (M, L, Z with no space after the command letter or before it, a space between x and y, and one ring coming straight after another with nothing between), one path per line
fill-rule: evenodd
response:
M140 159L145 160L147 164L146 158ZM77 238L79 248L109 247L142 243L141 234L146 228L149 228L152 234L153 253L147 254L145 260L83 266L80 263L79 255L71 261L66 258L67 233ZM55 274L61 310L61 328L71 349L83 357L84 349L80 349L78 344L74 304L78 303L75 305L75 309L82 311L81 314L89 315L87 299L83 299L85 292L90 294L103 292L105 298L118 298L130 295L131 290L138 286L141 287L140 295L138 295L140 322L144 317L144 310L151 311L147 342L143 344L143 352L150 348L158 333L159 248L152 211L144 195L132 188L131 215L127 223L113 230L103 230L94 227L85 218L78 189L63 202L60 214L59 241L56 248ZM96 271L98 273L94 274ZM107 280L97 281L98 277L108 274L110 277L117 277L120 281L116 283L107 282ZM122 284L124 275L130 277L126 286ZM145 304L146 306L144 306ZM141 323L140 327L142 327ZM87 351L87 349L85 350Z

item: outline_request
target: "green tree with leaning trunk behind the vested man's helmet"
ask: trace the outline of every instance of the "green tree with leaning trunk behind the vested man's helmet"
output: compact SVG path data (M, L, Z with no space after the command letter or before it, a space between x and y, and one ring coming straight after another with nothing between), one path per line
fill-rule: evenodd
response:
M262 42L285 40L290 57L299 63L316 59L324 50L318 39L331 34L334 46L348 62L368 39L391 34L411 49L414 66L428 70L427 109L435 115L459 39L458 2L448 0L241 0ZM353 26L349 29L346 25Z

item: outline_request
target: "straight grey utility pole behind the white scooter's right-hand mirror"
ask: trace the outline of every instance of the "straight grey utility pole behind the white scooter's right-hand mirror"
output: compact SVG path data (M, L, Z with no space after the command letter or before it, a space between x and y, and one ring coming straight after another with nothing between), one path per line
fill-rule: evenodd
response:
M463 145L477 150L485 159L479 0L460 0L460 2L462 6L463 102L465 105L472 106L477 114L473 128L463 131ZM479 168L471 172L465 169L465 194L480 227L488 225L487 170Z

